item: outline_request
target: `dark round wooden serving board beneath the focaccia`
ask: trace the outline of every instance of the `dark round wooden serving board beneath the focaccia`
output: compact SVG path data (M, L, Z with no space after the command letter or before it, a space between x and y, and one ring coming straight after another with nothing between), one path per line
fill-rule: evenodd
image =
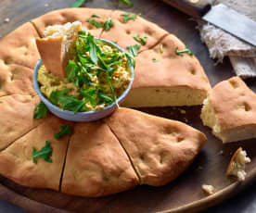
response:
M67 7L72 2L72 0L65 2L56 0L48 3L46 0L41 0L39 3L38 1L24 0L22 5L19 5L21 1L5 0L0 3L0 18L10 18L10 23L0 26L2 35L14 30L22 22L42 15L46 11ZM116 8L115 2L94 0L89 1L86 6L114 9ZM45 6L46 3L49 6ZM129 10L136 13L141 12L142 17L159 24L160 27L184 41L198 56L211 81L211 86L233 75L232 67L227 60L222 65L214 66L214 61L209 57L206 46L200 42L196 30L197 24L171 6L158 0L137 0L134 1L134 8ZM14 16L13 19L9 17L11 14L17 13L20 16ZM248 83L256 92L256 86L252 86L255 81ZM182 113L184 111L181 109L184 109L186 113ZM253 149L254 140L222 144L211 134L209 128L202 125L199 119L200 107L155 107L141 108L140 110L168 119L181 120L207 135L208 141L202 152L190 168L174 182L162 187L138 186L134 190L101 198L84 198L51 190L23 187L1 177L0 196L31 212L196 212L224 201L255 179L256 149ZM241 183L227 179L225 176L229 160L239 146L242 146L251 158L251 163L247 167L247 179ZM212 184L216 193L206 197L201 190L201 185L204 183Z

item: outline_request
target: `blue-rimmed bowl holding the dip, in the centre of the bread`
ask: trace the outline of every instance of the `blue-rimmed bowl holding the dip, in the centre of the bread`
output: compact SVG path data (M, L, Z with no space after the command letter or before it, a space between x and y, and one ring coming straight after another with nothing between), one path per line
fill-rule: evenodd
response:
M111 46L117 48L119 51L124 52L124 50L118 46L117 44L114 44L112 42L109 42L105 39L100 39L102 42L110 44ZM40 99L45 103L45 106L51 111L54 115L58 116L61 119L67 119L70 121L77 121L77 122L89 122L89 121L95 121L97 119L103 119L107 116L109 116L111 113L113 113L117 106L115 103L109 105L108 107L104 107L103 109L96 110L96 111L86 111L86 112L77 112L74 114L72 111L65 110L62 108L59 108L58 106L52 104L45 96L41 93L39 83L37 81L37 71L40 69L42 65L42 60L39 59L33 69L33 88L36 91L36 93L39 95ZM131 82L127 89L122 93L122 95L117 99L118 104L120 105L122 103L122 100L124 97L129 93L131 90L132 84L134 82L134 67L129 62L129 67L131 70Z

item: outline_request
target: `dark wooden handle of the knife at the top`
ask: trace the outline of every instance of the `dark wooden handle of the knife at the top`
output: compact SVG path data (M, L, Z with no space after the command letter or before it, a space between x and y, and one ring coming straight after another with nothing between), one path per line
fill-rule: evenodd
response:
M170 6L173 6L187 15L199 19L210 9L211 4L208 0L163 0Z

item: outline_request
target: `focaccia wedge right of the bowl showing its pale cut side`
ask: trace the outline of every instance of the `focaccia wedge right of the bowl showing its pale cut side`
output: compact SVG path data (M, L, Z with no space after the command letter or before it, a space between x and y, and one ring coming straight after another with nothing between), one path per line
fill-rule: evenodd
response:
M201 105L211 90L196 56L178 56L186 45L170 34L154 48L135 57L135 77L124 107ZM143 98L142 98L143 97Z

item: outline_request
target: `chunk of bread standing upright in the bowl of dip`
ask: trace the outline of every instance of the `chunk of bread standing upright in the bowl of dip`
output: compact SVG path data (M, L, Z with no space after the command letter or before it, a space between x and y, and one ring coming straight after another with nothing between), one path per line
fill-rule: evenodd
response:
M59 78L66 76L69 59L74 56L74 46L82 31L80 21L64 25L48 26L44 38L37 38L36 44L45 68Z

